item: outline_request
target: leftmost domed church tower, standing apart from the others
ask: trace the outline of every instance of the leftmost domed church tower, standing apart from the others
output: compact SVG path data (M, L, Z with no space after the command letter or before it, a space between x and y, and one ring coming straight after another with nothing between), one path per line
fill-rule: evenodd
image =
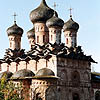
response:
M15 16L15 15L14 15ZM9 37L9 44L11 50L20 50L21 49L21 37L23 35L23 29L20 28L16 24L16 20L14 21L14 25L7 29L7 34Z

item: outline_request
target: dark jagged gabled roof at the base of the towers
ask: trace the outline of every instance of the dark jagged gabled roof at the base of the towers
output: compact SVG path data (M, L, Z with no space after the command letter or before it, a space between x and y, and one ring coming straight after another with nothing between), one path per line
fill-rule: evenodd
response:
M50 49L53 48L53 49ZM9 54L9 52L13 53L13 56ZM16 55L17 54L17 55ZM91 56L87 56L82 51L81 46L76 48L68 48L65 44L51 44L48 43L46 45L40 46L39 44L35 44L35 46L28 52L24 52L21 50L11 50L7 49L5 57L0 59L1 63L11 63L11 62L20 62L20 61L30 61L39 59L50 59L52 55L61 58L68 58L74 60L83 60L96 63Z

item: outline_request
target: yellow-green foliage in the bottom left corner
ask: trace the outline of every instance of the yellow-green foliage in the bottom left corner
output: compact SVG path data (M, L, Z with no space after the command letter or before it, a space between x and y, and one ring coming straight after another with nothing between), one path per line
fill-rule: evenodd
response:
M0 100L24 100L20 98L21 86L15 86L6 80L6 74L0 80Z

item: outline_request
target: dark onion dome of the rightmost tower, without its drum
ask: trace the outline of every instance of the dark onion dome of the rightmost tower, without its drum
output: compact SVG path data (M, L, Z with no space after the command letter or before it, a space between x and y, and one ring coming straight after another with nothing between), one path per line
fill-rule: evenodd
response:
M70 18L65 24L64 24L64 27L63 27L63 30L66 31L66 30L75 30L75 31L78 31L79 29L79 24L76 23L75 21L73 21L72 18Z

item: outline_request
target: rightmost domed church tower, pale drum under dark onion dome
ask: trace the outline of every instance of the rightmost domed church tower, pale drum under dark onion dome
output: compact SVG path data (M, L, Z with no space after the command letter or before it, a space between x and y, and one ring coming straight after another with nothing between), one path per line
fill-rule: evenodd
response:
M72 9L71 9L72 10ZM79 29L79 24L72 19L70 14L70 19L64 24L63 31L65 35L65 45L67 47L77 46L77 31Z

